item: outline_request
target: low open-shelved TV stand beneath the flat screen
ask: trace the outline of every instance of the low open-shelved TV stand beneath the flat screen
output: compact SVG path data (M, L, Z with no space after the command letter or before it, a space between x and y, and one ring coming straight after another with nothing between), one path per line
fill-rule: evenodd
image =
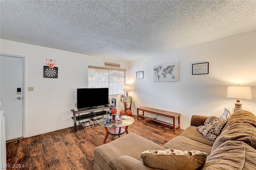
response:
M77 129L81 129L84 128L84 126L80 125L80 120L84 120L84 119L91 119L93 120L94 117L97 116L103 116L106 114L109 114L108 111L106 111L105 109L111 109L114 106L107 106L107 107L96 107L96 108L83 108L83 109L79 109L79 111L74 111L71 110L71 112L73 112L73 117L72 119L74 120L74 132L77 131ZM102 111L100 111L102 110ZM98 111L98 112L95 112ZM88 114L83 114L88 112ZM76 116L78 114L78 116ZM76 125L76 122L78 121L78 125Z

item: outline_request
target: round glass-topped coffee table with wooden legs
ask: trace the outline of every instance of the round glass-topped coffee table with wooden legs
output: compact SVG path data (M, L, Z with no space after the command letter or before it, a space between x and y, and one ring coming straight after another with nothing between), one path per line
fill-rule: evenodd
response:
M134 118L130 116L116 115L115 120L112 120L112 116L104 118L104 121L99 123L106 130L106 136L104 143L106 142L108 135L118 136L121 134L128 134L128 126L134 123Z

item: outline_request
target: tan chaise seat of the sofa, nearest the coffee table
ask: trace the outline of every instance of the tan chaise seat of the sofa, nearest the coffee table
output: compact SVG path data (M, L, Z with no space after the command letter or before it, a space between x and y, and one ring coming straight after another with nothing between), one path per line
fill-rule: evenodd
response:
M129 155L142 162L141 152L150 149L164 150L165 148L137 134L129 133L109 143L97 146L94 149L94 164L99 169L116 169L114 162L119 156Z

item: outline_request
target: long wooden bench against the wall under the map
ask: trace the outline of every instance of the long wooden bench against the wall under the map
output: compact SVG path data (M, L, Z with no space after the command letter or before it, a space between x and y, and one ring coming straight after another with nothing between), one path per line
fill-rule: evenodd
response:
M139 114L139 110L142 111L142 114ZM150 118L150 117L144 116L144 112L153 113L153 114L156 114L156 115L172 118L173 119L173 124L168 123L168 122L164 122L164 121L161 121L161 120L157 120L155 118ZM180 128L180 114L179 113L168 112L168 111L165 111L165 110L159 110L159 109L155 109L155 108L148 108L148 107L142 106L142 107L137 108L137 120L139 120L140 117L142 117L142 119L147 118L147 119L150 119L150 120L154 120L154 121L157 121L157 122L161 122L161 123L165 123L165 124L168 124L170 126L173 126L173 132L175 132L176 128ZM178 118L178 124L175 124L175 119L176 118Z

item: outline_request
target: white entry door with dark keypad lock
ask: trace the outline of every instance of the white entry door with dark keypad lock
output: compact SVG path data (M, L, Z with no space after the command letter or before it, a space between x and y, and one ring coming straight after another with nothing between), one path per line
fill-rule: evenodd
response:
M23 138L23 58L0 56L0 79L6 141Z

